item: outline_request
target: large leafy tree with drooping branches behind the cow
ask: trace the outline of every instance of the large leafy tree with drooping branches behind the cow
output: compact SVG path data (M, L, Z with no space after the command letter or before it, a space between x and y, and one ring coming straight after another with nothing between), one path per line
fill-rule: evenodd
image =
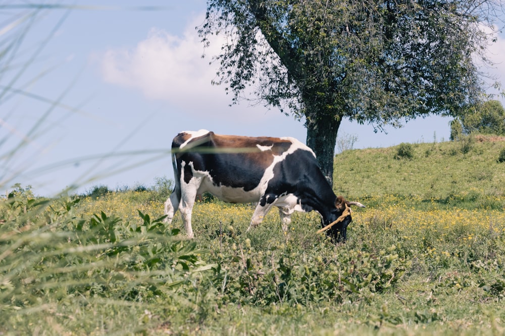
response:
M342 118L375 131L479 101L473 58L496 0L209 0L199 34L224 34L215 83L233 102L254 86L269 106L305 118L307 145L332 183Z

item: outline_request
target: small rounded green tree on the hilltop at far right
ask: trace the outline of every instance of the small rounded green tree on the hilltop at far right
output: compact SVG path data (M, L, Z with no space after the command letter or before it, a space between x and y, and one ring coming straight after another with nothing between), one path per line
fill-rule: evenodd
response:
M461 115L463 132L505 135L505 109L497 100L473 106Z

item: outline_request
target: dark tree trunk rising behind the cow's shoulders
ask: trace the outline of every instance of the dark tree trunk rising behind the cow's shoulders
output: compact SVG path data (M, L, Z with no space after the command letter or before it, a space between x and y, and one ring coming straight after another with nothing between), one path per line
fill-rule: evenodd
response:
M306 114L307 146L316 153L317 162L328 183L333 187L333 159L340 118L322 111Z

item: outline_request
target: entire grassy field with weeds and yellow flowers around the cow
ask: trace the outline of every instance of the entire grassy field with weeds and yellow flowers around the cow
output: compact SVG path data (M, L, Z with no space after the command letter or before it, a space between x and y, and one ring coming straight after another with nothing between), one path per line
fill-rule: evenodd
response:
M157 188L0 206L0 335L496 335L505 332L503 142L337 155L359 200L348 241L272 211L204 199L196 238L165 227Z

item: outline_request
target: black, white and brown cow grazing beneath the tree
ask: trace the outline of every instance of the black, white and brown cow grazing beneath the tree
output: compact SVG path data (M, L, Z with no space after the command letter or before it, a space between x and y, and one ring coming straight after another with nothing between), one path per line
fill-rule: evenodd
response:
M209 192L229 203L257 203L249 227L258 226L269 210L279 209L287 231L294 211L316 211L322 229L345 241L350 206L365 206L336 196L321 172L314 152L294 138L217 135L212 131L180 132L172 142L175 188L165 202L165 222L180 210L186 234L193 238L191 212L195 197Z

